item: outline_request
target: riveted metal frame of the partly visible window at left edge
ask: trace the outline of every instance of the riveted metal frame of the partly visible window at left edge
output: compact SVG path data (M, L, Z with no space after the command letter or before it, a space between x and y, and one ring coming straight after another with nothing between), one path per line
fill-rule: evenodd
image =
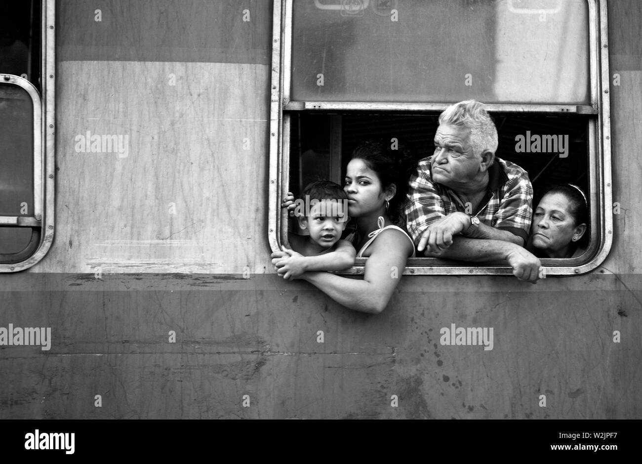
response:
M24 89L33 102L33 217L5 219L15 226L40 226L40 242L36 251L19 263L0 263L0 272L19 272L38 263L51 248L54 235L55 187L55 0L42 0L40 9L40 47L42 98L28 80L14 75L3 78L6 84ZM10 222L11 221L11 222Z

